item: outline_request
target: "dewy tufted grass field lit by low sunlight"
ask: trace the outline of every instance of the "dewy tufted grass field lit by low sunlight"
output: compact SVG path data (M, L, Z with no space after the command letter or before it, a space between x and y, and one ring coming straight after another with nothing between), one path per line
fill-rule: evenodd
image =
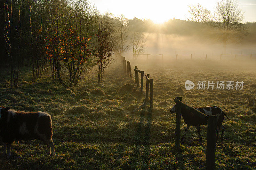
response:
M158 61L131 62L154 79L154 109L131 111L144 96L134 81L113 66L98 85L96 76L64 89L49 77L31 81L22 73L17 89L9 89L2 71L0 105L52 115L56 156L41 141L15 142L12 158L0 158L1 169L204 169L207 126L188 130L181 150L174 148L174 98L191 106L217 105L224 118L225 139L216 144L216 168L256 168L256 62ZM243 90L185 90L186 80L244 81ZM145 79L144 79L145 83ZM181 120L181 134L186 124ZM0 147L1 151L3 146Z

